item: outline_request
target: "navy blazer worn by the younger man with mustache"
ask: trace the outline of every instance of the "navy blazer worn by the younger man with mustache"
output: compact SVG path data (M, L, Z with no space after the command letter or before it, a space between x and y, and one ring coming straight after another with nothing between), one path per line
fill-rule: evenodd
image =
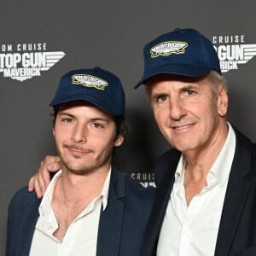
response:
M153 199L153 187L145 189L112 168L108 207L101 212L96 255L139 256ZM9 205L6 256L29 255L40 202L27 187L13 197Z

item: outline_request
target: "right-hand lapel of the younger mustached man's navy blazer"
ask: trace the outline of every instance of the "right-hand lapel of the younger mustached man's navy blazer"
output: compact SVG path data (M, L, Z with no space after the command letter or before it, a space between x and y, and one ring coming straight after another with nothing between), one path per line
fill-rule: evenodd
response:
M120 198L125 196L124 178L115 172L111 173L108 192L108 207L101 212L97 239L97 256L116 256L122 231L124 204Z

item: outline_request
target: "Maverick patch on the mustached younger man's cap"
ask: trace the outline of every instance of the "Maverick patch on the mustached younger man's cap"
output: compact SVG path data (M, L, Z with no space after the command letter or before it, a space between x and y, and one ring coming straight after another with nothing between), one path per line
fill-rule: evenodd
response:
M107 81L88 74L74 74L72 76L72 84L94 87L97 90L105 90L105 87L108 86Z

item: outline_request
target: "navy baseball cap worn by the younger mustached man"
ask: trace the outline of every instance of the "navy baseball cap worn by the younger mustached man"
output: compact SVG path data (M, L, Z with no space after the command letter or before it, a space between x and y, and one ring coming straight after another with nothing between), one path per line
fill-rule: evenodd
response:
M64 74L49 106L79 100L90 102L113 116L125 117L125 92L121 81L101 67Z

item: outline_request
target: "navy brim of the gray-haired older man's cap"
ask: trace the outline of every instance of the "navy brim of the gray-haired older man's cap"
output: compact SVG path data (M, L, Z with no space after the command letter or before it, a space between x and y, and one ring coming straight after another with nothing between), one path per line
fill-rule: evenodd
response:
M137 89L141 84L145 84L148 79L160 74L176 74L184 77L197 78L206 75L211 70L212 67L202 67L195 64L162 65L152 69L150 73L144 74L143 79L134 86L134 89Z

